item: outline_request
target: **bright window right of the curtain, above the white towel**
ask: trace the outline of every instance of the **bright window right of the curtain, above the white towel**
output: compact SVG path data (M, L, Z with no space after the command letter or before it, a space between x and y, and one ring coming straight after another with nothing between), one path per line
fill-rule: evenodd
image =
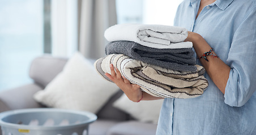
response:
M117 21L122 23L142 23L173 25L178 4L182 0L116 0Z

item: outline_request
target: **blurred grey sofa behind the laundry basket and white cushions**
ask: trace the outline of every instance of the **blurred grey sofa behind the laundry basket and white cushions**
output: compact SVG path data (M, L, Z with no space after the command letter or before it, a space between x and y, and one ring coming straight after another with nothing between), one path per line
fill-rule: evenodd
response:
M45 107L33 100L33 95L44 89L62 71L66 62L67 58L50 55L40 56L33 60L29 70L29 77L33 79L33 83L0 92L0 113L7 110ZM113 95L96 114L98 119L89 125L89 135L150 135L156 133L156 124L138 122L129 114L112 106L112 103L122 93L120 90Z

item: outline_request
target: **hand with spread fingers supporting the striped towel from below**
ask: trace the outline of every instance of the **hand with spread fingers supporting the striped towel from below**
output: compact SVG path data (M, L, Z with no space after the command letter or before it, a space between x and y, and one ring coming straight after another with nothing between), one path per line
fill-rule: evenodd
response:
M117 68L115 69L116 71L114 70L113 64L110 64L111 75L105 73L106 77L116 83L117 86L122 89L122 91L131 101L140 101L142 99L142 91L140 86L137 84L131 84L129 80L122 77L120 71Z

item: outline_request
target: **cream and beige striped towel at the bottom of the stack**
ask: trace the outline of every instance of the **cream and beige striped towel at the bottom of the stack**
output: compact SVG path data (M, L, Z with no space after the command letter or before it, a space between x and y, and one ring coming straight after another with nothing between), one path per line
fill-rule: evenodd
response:
M94 64L97 72L106 80L109 79L105 73L111 74L109 64L120 70L131 83L138 84L143 91L156 97L193 98L202 95L208 87L208 81L203 77L205 70L199 65L195 65L197 71L175 71L123 54L112 54L98 59Z

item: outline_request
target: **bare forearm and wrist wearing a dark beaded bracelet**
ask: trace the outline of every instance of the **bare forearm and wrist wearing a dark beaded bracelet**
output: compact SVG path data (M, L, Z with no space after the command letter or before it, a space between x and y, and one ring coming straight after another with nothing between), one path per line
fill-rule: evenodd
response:
M186 41L193 42L193 48L200 57L204 52L211 50L211 46L197 33L189 31L189 35ZM211 53L217 55L214 51ZM228 82L229 72L231 68L225 64L221 59L213 56L207 56L208 61L203 58L199 59L203 67L206 69L207 74L220 89L222 93L225 93L225 87Z

